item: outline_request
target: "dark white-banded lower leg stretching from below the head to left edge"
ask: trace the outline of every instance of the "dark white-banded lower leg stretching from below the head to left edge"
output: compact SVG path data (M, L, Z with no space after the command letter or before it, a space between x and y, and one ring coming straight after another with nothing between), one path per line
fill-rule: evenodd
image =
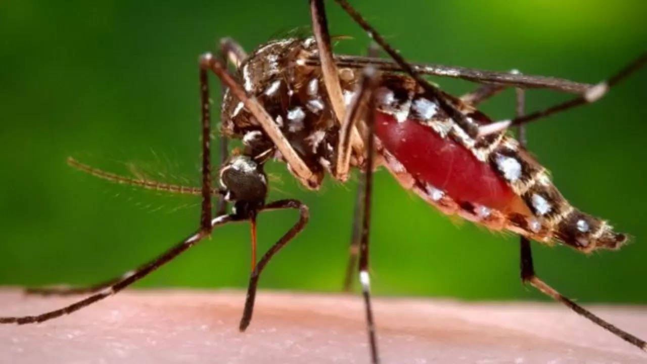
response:
M223 215L223 216L218 216L217 218L214 218L214 220L210 222L210 225L212 225L212 228L213 228L213 227L224 225L225 223L230 223L237 220L239 220L239 218L237 218L236 216ZM81 308L88 306L89 304L93 304L94 302L99 301L101 299L104 299L105 297L113 295L118 291L123 290L127 286L130 286L134 282L137 282L137 280L140 280L146 277L146 275L148 275L155 269L159 268L160 266L163 266L164 264L170 262L171 260L173 260L173 258L180 255L182 252L186 251L186 249L189 249L193 245L197 244L197 242L199 242L206 236L207 235L204 233L202 229L197 231L197 233L184 239L179 244L171 247L171 249L168 249L168 251L158 256L155 260L152 260L148 264L144 264L144 266L140 266L138 269L135 269L135 271L126 273L126 275L122 276L120 279L114 280L114 283L104 288L104 290L94 295L91 295L86 299L83 299L78 302L74 302L73 304L60 308L59 310L41 313L40 315L21 316L21 317L0 317L0 324L41 323L49 319L54 319L56 317L60 317L65 314L72 313L76 310L80 310Z

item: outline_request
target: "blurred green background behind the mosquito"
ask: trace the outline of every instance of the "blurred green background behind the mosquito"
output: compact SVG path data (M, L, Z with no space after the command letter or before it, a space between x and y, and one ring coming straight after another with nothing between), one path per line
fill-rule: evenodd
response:
M642 0L353 4L418 62L597 82L647 44ZM366 35L334 3L327 8L331 32L354 37L336 51L362 54ZM198 55L224 36L252 50L308 26L307 10L305 0L1 1L0 284L91 284L195 231L198 198L113 185L72 170L65 158L121 173L134 165L150 177L198 185ZM474 87L434 80L455 94ZM529 127L531 150L562 193L633 236L620 251L590 256L533 243L540 275L580 301L647 302L646 80L642 70L598 104ZM565 95L529 91L528 108L560 100ZM483 110L510 117L512 92ZM283 165L271 163L269 172L270 198L302 199L312 218L263 273L261 287L340 290L355 182L328 180L314 193ZM260 249L295 219L293 211L261 216ZM137 286L243 287L248 234L245 224L218 229ZM520 284L514 236L443 216L385 171L376 176L371 234L378 295L541 299Z

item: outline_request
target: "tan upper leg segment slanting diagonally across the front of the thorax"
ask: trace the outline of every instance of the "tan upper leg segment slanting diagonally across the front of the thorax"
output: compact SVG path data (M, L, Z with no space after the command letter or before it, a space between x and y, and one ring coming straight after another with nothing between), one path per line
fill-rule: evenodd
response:
M274 142L274 145L276 145L276 148L281 152L281 155L283 155L283 158L287 161L287 163L290 165L290 168L298 176L301 181L311 187L316 187L318 186L318 176L314 175L313 172L308 168L307 165L305 165L305 162L299 155L296 153L296 150L292 148L292 145L285 139L285 135L281 133L280 128L276 125L274 120L272 120L272 117L265 111L263 106L258 102L256 97L247 95L247 92L245 92L245 89L238 84L236 81L236 78L232 76L232 74L227 71L225 65L221 63L219 60L214 58L212 54L207 53L201 56L200 58L200 65L201 69L204 71L206 70L211 70L213 71L218 78L220 78L221 82L225 84L227 87L229 87L230 91L236 98L241 100L243 104L245 105L245 108L247 108L252 115L258 120L259 124L261 124L263 130L265 133L267 133L268 137Z

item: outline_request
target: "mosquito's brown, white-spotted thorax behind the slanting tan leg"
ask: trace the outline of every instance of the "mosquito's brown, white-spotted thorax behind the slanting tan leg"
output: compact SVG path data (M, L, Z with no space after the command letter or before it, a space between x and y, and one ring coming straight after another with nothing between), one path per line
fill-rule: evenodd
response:
M313 38L270 41L252 52L238 69L245 91L261 102L313 172L315 182L306 187L314 189L325 173L334 170L339 131L321 69L305 63L316 54ZM344 89L353 89L356 75L350 69L343 73ZM229 92L223 98L221 120L221 131L242 139L246 154L265 157L268 153L267 157L282 160L251 113Z

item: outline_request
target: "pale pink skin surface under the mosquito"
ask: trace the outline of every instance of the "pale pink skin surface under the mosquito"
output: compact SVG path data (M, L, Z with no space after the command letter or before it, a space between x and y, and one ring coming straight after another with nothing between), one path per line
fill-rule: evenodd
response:
M74 298L0 291L3 315ZM243 291L126 290L42 324L0 326L0 363L368 363L355 295L260 291L238 332ZM641 337L647 308L595 306ZM384 363L644 363L641 352L554 303L375 299Z

